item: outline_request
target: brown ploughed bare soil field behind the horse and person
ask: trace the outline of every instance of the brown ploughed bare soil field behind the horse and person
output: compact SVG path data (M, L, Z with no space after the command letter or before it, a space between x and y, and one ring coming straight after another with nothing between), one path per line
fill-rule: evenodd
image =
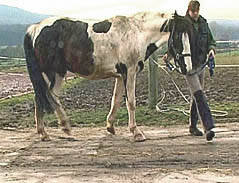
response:
M210 102L239 101L239 68L216 68L212 78L206 72L205 93ZM67 78L74 74L68 73ZM189 90L184 78L178 73L171 74L184 95L190 98ZM111 102L114 87L114 79L97 81L85 80L79 86L71 90L63 91L61 100L66 108L100 108L108 107ZM0 72L0 99L32 91L32 85L27 73L1 73ZM182 96L176 90L170 77L160 70L159 72L159 96L166 92L165 104L176 104ZM137 105L147 105L148 101L148 77L147 72L141 72L136 81Z

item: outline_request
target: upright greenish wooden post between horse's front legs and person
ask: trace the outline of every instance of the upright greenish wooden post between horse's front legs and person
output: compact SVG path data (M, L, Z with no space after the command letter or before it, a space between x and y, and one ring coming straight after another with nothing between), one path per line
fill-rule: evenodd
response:
M148 72L148 105L149 108L154 109L158 99L158 66L153 62L156 60L156 54L149 57L149 72Z

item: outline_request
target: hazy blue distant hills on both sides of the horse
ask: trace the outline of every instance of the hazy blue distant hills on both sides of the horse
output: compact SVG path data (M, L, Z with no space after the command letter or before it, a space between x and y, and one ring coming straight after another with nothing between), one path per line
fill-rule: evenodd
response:
M50 15L0 5L0 46L22 45L26 28ZM216 40L239 40L239 20L208 20Z

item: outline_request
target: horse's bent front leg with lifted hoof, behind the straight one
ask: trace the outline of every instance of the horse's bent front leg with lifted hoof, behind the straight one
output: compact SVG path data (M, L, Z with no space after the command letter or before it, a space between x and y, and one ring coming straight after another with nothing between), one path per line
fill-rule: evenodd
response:
M110 112L107 116L107 131L111 134L115 134L114 124L117 110L120 108L120 102L124 91L123 78L119 77L115 79L115 88L111 101Z

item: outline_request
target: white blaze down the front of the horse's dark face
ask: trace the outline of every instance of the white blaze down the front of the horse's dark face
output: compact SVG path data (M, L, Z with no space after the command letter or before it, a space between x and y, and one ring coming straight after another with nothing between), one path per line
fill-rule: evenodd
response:
M183 43L183 52L182 54L190 54L190 42L189 42L189 37L188 33L184 32L182 35L182 43ZM192 70L192 60L191 56L185 56L184 61L186 64L187 72L190 72Z

